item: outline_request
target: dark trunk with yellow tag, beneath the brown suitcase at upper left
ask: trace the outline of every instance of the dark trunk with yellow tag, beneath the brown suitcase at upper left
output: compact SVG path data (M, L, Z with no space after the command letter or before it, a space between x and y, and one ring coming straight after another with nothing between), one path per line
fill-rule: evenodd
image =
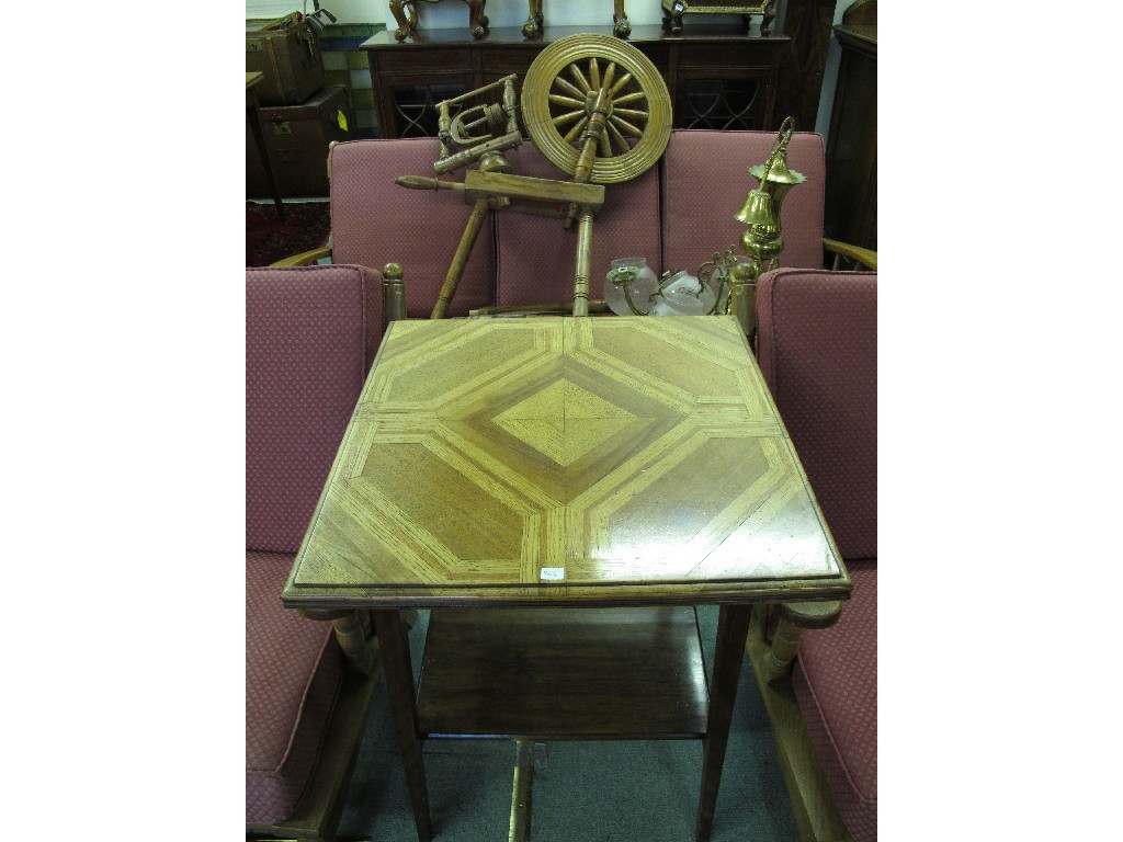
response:
M349 140L354 118L347 89L328 85L299 106L262 106L265 144L281 195L328 195L328 145ZM257 145L246 125L246 196L272 195Z

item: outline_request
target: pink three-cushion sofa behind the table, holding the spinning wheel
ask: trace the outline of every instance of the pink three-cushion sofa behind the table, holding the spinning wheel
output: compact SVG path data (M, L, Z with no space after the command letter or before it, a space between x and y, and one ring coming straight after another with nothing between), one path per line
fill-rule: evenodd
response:
M666 153L646 173L605 185L593 227L593 298L600 298L612 259L646 257L661 273L690 271L740 240L745 226L733 214L757 180L748 168L763 164L776 139L772 131L672 131ZM331 259L381 271L404 269L410 318L427 318L468 220L471 205L451 191L410 190L401 175L432 177L439 155L435 138L355 140L336 144L331 175ZM508 153L512 172L567 180L530 141ZM784 266L823 265L823 140L795 132L788 166L807 176L783 205ZM463 181L463 171L447 176ZM465 267L449 315L492 305L564 302L573 299L576 226L513 210L492 211ZM328 254L309 253L290 264ZM381 304L376 304L380 308ZM381 335L381 328L380 328Z

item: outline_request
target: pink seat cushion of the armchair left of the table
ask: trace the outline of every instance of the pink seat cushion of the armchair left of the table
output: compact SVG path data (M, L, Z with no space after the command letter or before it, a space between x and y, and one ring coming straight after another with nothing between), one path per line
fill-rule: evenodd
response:
M293 557L246 552L246 824L292 815L343 680L330 623L281 606Z

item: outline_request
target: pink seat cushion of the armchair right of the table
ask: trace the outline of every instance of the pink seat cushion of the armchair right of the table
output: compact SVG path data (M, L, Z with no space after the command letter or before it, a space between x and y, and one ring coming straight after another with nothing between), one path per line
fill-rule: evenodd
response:
M807 632L792 685L839 815L877 839L877 562L850 561L853 595L830 629Z

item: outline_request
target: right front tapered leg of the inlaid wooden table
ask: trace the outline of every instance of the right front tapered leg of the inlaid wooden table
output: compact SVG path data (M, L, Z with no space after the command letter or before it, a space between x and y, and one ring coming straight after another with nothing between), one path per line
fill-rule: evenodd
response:
M745 638L749 632L751 605L722 605L718 615L718 644L710 687L710 713L702 756L702 795L699 798L697 842L709 842L713 811L718 805L721 767L725 762L729 725L733 720L737 684L745 660Z

